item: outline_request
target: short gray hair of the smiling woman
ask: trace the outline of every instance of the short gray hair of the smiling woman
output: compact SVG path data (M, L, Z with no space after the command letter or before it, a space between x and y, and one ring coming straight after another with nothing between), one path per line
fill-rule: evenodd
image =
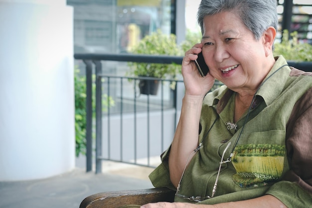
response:
M204 16L214 15L221 11L237 13L245 26L259 40L263 32L273 26L278 30L276 0L201 0L197 21L203 34Z

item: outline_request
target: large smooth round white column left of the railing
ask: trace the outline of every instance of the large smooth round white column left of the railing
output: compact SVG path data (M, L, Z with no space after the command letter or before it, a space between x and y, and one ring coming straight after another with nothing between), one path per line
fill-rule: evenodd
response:
M0 181L75 167L73 9L0 0Z

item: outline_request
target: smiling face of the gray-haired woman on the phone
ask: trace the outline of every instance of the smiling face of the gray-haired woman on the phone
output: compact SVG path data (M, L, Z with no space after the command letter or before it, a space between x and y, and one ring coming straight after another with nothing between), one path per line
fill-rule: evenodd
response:
M203 28L202 52L209 73L233 91L255 90L268 73L263 37L256 40L228 11L205 16Z

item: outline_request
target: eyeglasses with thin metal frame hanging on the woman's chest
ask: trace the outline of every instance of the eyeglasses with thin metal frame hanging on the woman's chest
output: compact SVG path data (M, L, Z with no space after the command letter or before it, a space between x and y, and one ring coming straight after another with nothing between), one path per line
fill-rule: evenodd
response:
M177 186L177 188L176 188L175 196L177 196L177 197L179 197L179 198L182 198L182 199L185 199L185 200L193 201L193 202L201 202L201 201L204 201L204 200L213 198L213 196L214 196L214 194L215 194L215 192L216 192L216 190L217 190L217 184L218 184L218 179L219 179L219 175L220 175L220 171L221 171L221 166L222 166L222 164L224 164L224 163L229 163L229 162L231 162L231 158L228 158L228 159L226 159L225 161L223 161L224 154L225 154L225 152L227 151L227 149L230 147L230 145L231 145L231 142L228 142L226 148L224 149L224 151L223 151L223 153L222 153L221 162L220 162L220 166L219 166L217 178L216 178L216 181L215 181L214 186L213 186L213 189L212 189L211 197L209 197L209 196L206 196L206 197L199 197L199 196L197 196L197 197L194 197L194 196L192 196L192 197L186 197L186 196L184 196L184 195L178 194L178 192L180 191L181 181L182 181L182 178L183 178L183 175L184 175L186 166L187 166L187 164L188 164L188 161L189 161L191 155L194 154L194 153L196 153L196 152L202 147L202 143L200 143L199 146L198 146L198 147L191 153L191 155L188 157L187 162L186 162L186 165L185 165L184 170L183 170L183 173L182 173L182 176L181 176L181 179L180 179L179 184L178 184L178 186Z

